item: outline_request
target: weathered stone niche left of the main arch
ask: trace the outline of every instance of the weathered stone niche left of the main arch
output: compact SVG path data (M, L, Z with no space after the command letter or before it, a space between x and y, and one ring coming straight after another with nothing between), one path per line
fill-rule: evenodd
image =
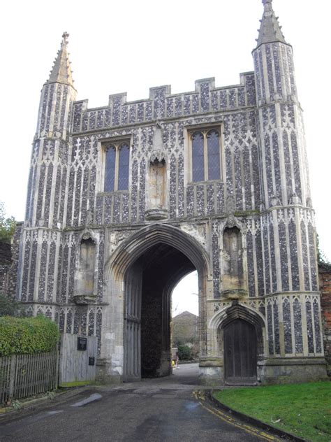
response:
M76 304L89 304L94 301L94 271L96 262L96 243L91 237L82 238L80 242L80 257L76 273Z

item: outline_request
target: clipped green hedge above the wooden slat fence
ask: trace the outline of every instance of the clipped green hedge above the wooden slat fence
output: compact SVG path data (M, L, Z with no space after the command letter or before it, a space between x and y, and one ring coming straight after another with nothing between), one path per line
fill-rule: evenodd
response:
M57 325L42 315L34 318L0 318L0 356L49 352L58 341Z

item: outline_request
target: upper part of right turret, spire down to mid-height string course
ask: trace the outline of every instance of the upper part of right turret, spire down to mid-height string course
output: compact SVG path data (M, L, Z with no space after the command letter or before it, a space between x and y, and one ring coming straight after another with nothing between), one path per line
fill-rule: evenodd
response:
M286 43L272 0L263 0L256 49L256 99L260 129L263 204L310 204L302 113L292 47Z

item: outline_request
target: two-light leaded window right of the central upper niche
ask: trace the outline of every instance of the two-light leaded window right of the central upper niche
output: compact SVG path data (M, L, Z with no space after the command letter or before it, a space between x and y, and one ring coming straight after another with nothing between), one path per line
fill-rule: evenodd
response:
M221 141L218 129L191 134L192 181L221 179Z

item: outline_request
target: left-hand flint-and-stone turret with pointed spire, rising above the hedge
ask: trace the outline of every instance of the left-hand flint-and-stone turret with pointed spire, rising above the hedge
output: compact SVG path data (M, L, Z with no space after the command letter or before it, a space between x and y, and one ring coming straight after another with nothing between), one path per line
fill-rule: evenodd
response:
M59 244L68 194L71 115L76 94L67 44L68 34L64 32L50 78L41 91L32 145L17 285L18 298L26 302L52 304L57 296ZM46 314L54 318L51 308Z

